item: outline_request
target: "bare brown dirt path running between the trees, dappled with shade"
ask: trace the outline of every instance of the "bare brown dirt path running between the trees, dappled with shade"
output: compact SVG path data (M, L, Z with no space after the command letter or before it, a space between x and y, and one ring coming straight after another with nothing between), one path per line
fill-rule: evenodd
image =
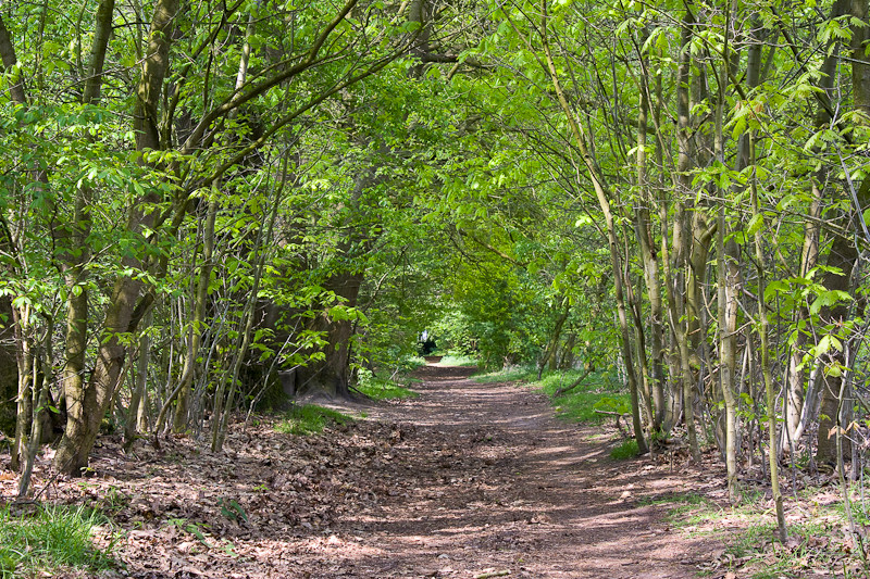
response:
M670 532L662 507L638 505L684 481L613 462L610 437L555 419L540 394L467 375L424 372L402 414L413 435L395 446L395 483L407 491L360 519L381 554L351 575L696 576L717 545Z

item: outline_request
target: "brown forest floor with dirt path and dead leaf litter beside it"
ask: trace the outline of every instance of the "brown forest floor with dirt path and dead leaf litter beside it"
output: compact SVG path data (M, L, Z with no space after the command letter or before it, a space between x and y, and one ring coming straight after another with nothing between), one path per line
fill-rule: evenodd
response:
M718 567L723 545L672 529L660 501L723 498L721 471L614 461L612 426L557 419L545 395L470 374L423 367L418 398L321 435L238 425L220 454L185 437L124 454L103 438L90 477L46 479L46 455L35 486L111 517L114 577L735 577Z

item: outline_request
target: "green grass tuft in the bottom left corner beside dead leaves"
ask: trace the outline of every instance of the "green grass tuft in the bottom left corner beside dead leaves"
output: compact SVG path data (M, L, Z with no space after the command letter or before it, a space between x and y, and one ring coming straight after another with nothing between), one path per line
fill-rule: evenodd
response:
M60 569L108 570L115 566L110 552L91 542L96 527L107 519L83 506L46 506L17 517L0 508L0 577L54 575ZM111 550L110 550L111 551Z

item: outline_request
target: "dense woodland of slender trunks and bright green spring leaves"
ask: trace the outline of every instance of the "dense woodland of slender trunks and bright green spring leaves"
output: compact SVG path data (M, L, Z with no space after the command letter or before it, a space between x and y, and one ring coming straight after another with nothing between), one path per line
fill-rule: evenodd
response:
M718 445L733 496L757 451L774 498L780 458L860 470L867 0L0 18L23 492L40 440L71 475L101 428L220 450L233 413L351 395L423 330L489 367L616 368L638 449Z

